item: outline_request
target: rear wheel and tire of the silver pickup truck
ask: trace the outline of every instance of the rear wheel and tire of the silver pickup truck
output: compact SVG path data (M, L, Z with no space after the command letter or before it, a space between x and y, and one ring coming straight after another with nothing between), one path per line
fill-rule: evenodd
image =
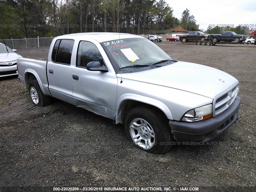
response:
M46 106L51 102L51 97L43 94L37 80L30 82L28 92L33 104L36 106Z

